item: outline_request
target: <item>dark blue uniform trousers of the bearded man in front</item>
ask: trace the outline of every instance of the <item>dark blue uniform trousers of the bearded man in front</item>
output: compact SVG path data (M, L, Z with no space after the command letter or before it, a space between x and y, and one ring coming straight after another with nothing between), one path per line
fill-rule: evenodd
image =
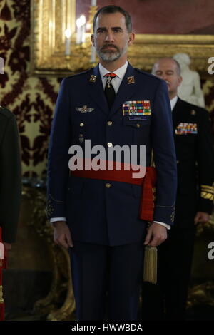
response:
M71 274L78 321L138 319L143 241L119 246L73 242Z

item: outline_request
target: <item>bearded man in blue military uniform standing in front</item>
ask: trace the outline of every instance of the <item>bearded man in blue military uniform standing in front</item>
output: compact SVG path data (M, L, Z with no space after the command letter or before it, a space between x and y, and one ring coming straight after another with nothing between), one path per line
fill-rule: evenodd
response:
M77 319L136 320L143 244L161 244L173 224L177 177L170 104L165 82L127 61L134 34L126 11L103 7L93 31L98 66L61 83L49 145L47 211L55 242L71 254ZM141 186L119 181L121 171L114 170L115 180L108 171L103 180L100 171L97 178L86 177L88 171L69 174L68 149L84 150L86 140L106 150L146 145L148 171L153 149L158 181L148 232L138 214Z

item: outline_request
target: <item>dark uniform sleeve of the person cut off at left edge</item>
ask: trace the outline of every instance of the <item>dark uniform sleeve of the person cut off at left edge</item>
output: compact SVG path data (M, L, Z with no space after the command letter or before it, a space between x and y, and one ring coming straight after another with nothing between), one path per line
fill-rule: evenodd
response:
M0 105L0 227L6 244L16 241L21 206L21 154L16 115Z

